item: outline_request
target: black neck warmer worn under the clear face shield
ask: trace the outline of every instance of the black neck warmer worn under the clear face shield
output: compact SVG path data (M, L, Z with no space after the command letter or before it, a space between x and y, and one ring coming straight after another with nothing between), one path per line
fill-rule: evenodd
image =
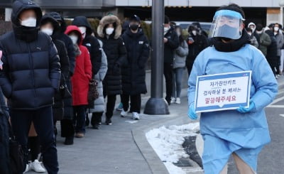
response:
M246 30L243 30L241 38L238 40L231 41L229 43L224 43L221 38L212 38L212 45L216 50L220 52L234 52L242 48L246 43L250 43L249 34Z

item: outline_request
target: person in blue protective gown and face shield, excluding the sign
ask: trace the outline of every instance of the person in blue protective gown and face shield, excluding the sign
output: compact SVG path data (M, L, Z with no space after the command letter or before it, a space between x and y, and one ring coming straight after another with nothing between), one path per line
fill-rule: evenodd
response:
M252 71L249 108L201 114L205 174L226 173L231 155L239 173L256 173L258 153L271 141L264 108L273 101L278 84L264 55L249 44L244 18L244 11L236 4L217 10L209 33L212 45L197 56L188 82L188 116L197 119L197 76Z

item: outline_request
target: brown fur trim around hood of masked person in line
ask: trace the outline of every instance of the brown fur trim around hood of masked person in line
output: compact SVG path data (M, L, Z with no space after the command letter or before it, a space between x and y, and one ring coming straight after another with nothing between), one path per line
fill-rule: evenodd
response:
M119 20L118 17L114 16L114 15L109 15L109 16L104 16L104 18L102 18L101 21L99 21L99 26L97 28L97 33L99 35L100 38L104 38L105 34L106 34L106 26L110 23L114 23L114 33L112 34L112 36L114 37L114 39L118 39L119 36L121 36L121 22Z

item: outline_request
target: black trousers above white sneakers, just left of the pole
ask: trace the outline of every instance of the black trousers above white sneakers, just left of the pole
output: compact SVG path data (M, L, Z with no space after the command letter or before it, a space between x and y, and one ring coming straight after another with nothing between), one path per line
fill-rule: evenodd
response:
M124 105L124 111L129 110L129 98L131 102L130 112L137 112L138 114L140 114L141 94L136 94L136 95L122 94L121 102Z

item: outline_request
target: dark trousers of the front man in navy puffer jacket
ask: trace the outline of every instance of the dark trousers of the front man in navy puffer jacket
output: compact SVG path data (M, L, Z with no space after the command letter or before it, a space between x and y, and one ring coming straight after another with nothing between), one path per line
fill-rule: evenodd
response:
M23 151L27 151L28 131L33 121L35 131L40 138L43 164L49 174L58 173L58 153L55 146L52 108L44 107L32 111L11 109L10 114L13 132L23 147Z

